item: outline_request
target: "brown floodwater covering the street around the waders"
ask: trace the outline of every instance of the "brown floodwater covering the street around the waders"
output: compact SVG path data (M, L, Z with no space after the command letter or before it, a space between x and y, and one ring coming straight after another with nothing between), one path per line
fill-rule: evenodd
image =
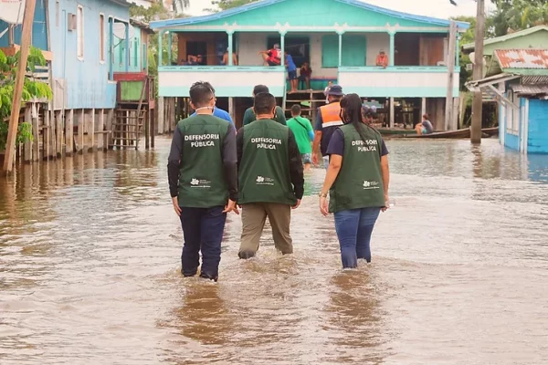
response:
M341 269L306 177L295 255L266 231L219 282L180 274L170 141L0 178L1 364L545 364L548 156L496 140L387 141L391 197L373 264Z

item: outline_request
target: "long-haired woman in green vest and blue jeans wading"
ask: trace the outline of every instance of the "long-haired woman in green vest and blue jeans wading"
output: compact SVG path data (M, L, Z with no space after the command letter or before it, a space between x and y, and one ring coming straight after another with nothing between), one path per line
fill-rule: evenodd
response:
M362 99L341 100L344 125L329 143L329 168L320 193L321 214L335 215L343 268L371 262L371 235L381 211L388 207L388 151L381 134L364 123ZM327 201L329 192L330 201Z

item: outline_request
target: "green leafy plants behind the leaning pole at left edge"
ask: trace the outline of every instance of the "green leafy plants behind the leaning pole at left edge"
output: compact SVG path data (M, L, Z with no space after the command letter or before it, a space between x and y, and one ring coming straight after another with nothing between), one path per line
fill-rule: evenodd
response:
M8 57L0 50L0 151L5 150L8 130L7 121L12 112L18 62L19 52L13 57ZM30 47L26 70L32 74L36 71L37 66L46 66L46 59L41 50ZM53 93L46 83L28 77L25 78L21 95L24 103L31 99L51 99L52 97ZM19 124L16 139L17 143L26 141L32 141L32 125L28 121Z

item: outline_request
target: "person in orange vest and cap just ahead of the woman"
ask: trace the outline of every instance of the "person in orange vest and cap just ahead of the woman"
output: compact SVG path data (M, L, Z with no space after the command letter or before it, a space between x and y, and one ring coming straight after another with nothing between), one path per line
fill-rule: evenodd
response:
M329 104L318 108L316 125L314 127L314 144L312 147L312 163L318 165L318 151L323 156L323 167L329 166L327 146L333 132L344 123L341 120L341 99L344 96L339 85L332 85L326 92Z

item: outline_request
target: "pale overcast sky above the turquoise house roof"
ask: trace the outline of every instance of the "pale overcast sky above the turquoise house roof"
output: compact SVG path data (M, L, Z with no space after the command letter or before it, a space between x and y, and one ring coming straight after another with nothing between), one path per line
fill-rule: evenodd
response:
M365 2L405 13L443 19L449 16L476 15L476 2L473 0L456 0L458 6L450 5L449 0L367 0ZM192 16L205 15L204 9L212 7L211 0L190 0L190 3L189 13Z

